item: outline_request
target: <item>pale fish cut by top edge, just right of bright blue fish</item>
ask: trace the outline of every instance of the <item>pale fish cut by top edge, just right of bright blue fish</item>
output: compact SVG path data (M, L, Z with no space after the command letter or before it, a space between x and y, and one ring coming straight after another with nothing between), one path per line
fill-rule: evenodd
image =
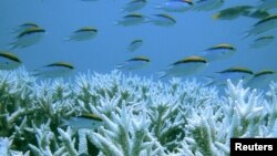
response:
M224 0L197 0L194 4L196 11L211 11L220 8Z

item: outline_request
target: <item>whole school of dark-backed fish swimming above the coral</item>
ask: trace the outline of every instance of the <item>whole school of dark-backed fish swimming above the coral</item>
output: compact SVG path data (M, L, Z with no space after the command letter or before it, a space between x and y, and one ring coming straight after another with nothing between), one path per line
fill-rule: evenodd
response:
M82 0L85 2L89 0ZM177 24L172 13L184 12L199 12L199 11L215 11L211 17L211 20L235 20L239 17L252 18L256 20L246 31L246 34L238 37L242 40L248 40L254 37L249 49L260 49L270 45L275 42L274 34L265 34L270 30L277 28L277 14L271 14L270 10L277 8L277 0L260 0L259 3L253 6L235 6L224 7L226 0L167 0L161 1L160 4L153 6L152 9L161 11L155 14L143 14L140 10L147 6L147 0L129 0L122 7L122 17L115 20L114 27L137 27L142 24L153 24L155 27L164 27L174 29ZM112 23L111 23L112 24ZM85 42L98 38L100 28L93 25L83 25L76 28L71 34L64 37L64 42ZM48 30L34 22L27 21L20 23L12 30L16 37L11 43L9 43L9 50L0 51L0 70L14 70L23 64L23 62L14 54L13 51L28 49L29 46L38 44L43 37L48 33ZM151 65L152 60L147 55L136 55L136 51L144 46L145 41L142 38L133 39L129 41L125 51L132 53L133 56L124 62L119 62L115 69L134 71L141 70ZM202 51L199 55L189 55L181 58L175 62L168 62L168 66L165 66L163 71L157 71L160 79L171 76L187 76L202 72L208 64L228 60L233 55L236 55L237 48L229 43L218 43L209 45ZM70 62L50 62L44 66L40 66L32 71L34 76L43 77L57 77L65 76L72 73L75 69ZM223 85L227 79L234 81L244 79L245 83L250 87L260 87L266 85L271 80L276 80L276 71L265 69L264 71L253 72L244 66L229 66L224 71L218 71L206 75L211 82L207 85Z

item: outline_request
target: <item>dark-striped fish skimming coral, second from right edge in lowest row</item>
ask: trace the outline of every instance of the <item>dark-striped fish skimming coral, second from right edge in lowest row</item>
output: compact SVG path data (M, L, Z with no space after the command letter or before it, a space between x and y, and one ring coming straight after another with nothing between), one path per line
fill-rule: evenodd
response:
M229 79L233 83L237 83L239 80L245 80L247 82L253 76L253 71L247 67L235 66L228 67L220 72L216 72L212 76L212 82L208 82L205 86L209 85L226 85L227 80Z

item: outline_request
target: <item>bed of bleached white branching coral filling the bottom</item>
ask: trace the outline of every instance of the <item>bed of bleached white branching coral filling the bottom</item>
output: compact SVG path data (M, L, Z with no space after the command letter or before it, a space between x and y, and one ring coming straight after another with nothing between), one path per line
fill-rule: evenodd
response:
M1 156L225 156L232 137L277 137L276 118L274 82L261 92L228 80L219 96L117 71L70 81L0 71Z

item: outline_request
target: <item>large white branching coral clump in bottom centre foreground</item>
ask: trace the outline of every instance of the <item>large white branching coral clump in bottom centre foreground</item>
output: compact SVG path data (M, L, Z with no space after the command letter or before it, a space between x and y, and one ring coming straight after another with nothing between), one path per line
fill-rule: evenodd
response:
M89 135L104 155L140 156L163 152L156 141L148 137L150 119L145 113L133 114L125 104L116 110L119 114L112 113L111 118L102 115L106 126Z

